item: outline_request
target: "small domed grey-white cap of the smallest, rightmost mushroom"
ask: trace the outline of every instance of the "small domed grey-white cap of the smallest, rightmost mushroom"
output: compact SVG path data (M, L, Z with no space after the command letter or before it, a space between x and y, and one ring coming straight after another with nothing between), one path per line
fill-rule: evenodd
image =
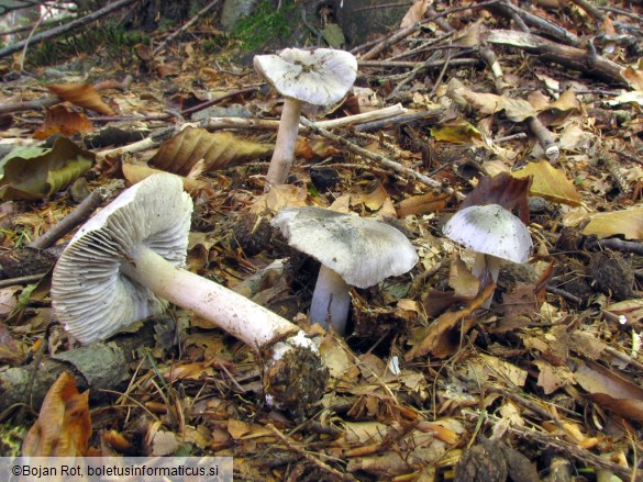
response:
M513 262L526 262L532 247L523 222L498 204L459 210L442 232L468 249Z

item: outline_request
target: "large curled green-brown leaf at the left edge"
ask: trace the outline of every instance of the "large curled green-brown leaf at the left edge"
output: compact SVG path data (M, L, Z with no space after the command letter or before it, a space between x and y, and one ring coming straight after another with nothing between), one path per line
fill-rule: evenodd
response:
M74 182L93 164L93 154L67 137L58 137L51 149L21 147L0 161L0 199L35 200Z

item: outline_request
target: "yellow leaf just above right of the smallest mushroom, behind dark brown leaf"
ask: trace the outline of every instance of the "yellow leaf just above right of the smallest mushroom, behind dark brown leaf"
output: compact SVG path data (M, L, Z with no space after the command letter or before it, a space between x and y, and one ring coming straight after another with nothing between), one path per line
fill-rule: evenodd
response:
M533 182L529 192L532 195L541 195L548 201L561 204L580 205L580 194L572 181L565 177L562 170L556 169L546 160L529 162L522 169L511 172L511 176L518 179L531 176Z

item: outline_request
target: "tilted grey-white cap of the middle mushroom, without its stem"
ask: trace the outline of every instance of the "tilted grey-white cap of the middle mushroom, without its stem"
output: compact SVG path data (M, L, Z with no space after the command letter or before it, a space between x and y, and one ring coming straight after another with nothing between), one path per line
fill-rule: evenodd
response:
M286 208L270 224L281 229L290 246L357 288L402 274L418 262L407 236L378 221L321 208Z

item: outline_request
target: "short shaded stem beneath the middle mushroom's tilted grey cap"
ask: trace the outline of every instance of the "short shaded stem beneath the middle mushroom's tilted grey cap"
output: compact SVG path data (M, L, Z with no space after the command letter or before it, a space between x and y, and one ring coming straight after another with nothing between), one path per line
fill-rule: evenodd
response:
M344 335L351 309L350 290L340 274L322 265L312 293L310 321L328 328L330 320L335 332Z

